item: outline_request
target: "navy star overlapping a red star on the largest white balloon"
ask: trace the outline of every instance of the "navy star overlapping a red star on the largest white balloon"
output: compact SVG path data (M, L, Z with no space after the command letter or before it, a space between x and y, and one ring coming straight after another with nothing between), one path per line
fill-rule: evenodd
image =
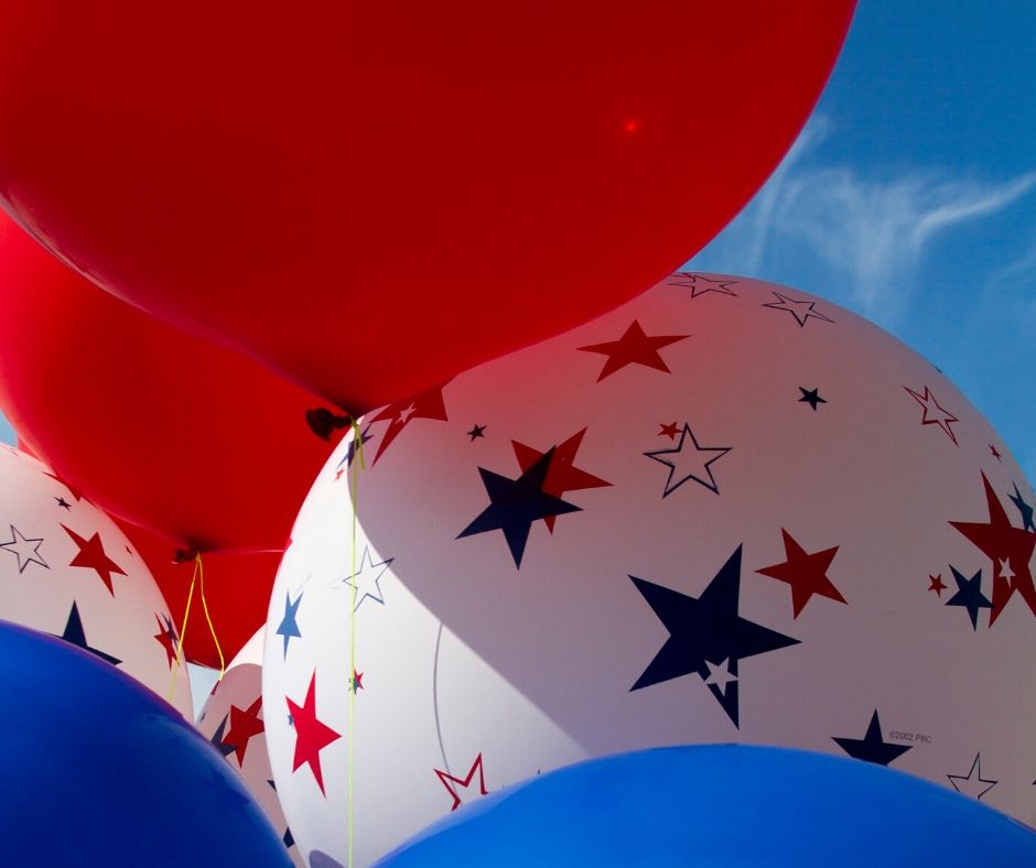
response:
M487 531L504 531L504 539L507 540L507 547L515 558L515 566L520 568L533 521L579 512L581 509L543 491L543 482L553 457L554 449L548 449L517 479L508 479L479 467L482 484L489 495L489 506L461 531L457 539Z

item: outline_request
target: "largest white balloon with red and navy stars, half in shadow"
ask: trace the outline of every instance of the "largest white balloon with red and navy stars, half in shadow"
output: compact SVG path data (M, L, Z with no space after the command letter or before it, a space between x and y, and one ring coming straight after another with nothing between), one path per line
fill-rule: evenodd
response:
M687 742L946 788L981 746L983 802L1036 822L1036 498L925 359L797 290L682 274L435 397L363 420L391 446L336 481L339 444L278 575L266 737L303 853L347 864L350 780L364 864L458 798Z

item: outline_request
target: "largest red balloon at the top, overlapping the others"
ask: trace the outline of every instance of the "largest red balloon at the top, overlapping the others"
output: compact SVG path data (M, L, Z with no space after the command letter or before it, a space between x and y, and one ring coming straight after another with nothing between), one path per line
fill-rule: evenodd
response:
M853 6L0 0L0 198L99 284L355 412L693 254L789 147Z

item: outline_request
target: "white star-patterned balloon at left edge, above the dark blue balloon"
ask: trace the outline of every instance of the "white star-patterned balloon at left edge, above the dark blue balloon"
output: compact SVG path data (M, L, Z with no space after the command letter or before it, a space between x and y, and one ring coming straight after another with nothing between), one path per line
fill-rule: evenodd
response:
M10 447L0 449L0 618L89 651L194 719L175 620L148 566L84 492Z

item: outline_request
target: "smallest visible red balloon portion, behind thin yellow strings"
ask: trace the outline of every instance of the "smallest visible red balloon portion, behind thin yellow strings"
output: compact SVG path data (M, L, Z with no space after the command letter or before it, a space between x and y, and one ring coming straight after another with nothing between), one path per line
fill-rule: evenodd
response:
M194 575L194 563L174 563L173 546L166 540L125 521L118 524L158 582L180 632ZM213 626L211 630L202 606L202 588L195 585L187 629L183 634L183 653L192 663L219 669L219 652L216 650L213 631L219 641L224 662L229 663L256 630L266 623L270 590L281 562L281 553L217 553L206 554L202 561L205 571L205 601Z

